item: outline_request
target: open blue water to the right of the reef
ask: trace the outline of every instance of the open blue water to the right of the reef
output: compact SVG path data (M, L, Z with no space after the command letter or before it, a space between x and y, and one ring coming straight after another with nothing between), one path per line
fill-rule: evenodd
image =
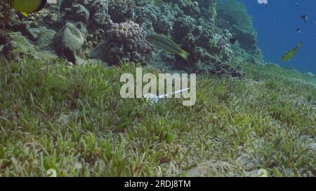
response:
M257 0L239 0L246 4L258 32L258 44L266 62L292 66L299 71L316 73L316 0L268 0L264 7ZM308 15L303 22L301 15ZM301 28L301 34L296 32ZM295 48L301 41L301 50L289 61L280 59L284 52Z

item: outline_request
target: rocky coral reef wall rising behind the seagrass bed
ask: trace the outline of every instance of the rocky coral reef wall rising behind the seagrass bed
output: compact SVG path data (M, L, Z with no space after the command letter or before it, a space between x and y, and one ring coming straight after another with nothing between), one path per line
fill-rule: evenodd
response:
M7 5L1 3L0 8ZM235 0L58 0L22 22L11 11L2 11L0 17L16 21L7 28L20 32L39 51L54 50L70 62L94 58L107 64L152 63L190 72L207 72L230 62L262 62L251 17ZM169 36L190 53L189 59L152 51L147 34ZM232 37L238 43L230 44ZM0 35L1 41L8 38ZM221 69L233 70L227 64Z

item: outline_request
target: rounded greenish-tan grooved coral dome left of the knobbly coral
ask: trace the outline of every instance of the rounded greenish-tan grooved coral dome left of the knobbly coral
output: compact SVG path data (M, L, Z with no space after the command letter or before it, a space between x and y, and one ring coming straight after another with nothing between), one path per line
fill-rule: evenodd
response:
M75 63L74 55L81 52L84 45L84 36L74 24L67 22L53 37L53 47L60 56L65 56Z

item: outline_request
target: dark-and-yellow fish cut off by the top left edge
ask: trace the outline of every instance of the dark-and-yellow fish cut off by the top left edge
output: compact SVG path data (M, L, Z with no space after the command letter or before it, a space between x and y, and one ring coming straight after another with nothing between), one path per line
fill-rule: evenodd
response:
M22 15L28 17L29 13L36 13L46 6L47 0L8 0L8 3Z

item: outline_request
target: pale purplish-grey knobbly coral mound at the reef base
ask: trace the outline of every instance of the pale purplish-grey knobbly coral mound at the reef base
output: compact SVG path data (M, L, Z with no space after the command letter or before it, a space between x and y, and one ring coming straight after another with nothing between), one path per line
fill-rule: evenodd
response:
M112 24L105 41L93 50L92 56L109 64L119 64L121 61L144 63L152 50L145 39L146 34L142 27L132 21Z

